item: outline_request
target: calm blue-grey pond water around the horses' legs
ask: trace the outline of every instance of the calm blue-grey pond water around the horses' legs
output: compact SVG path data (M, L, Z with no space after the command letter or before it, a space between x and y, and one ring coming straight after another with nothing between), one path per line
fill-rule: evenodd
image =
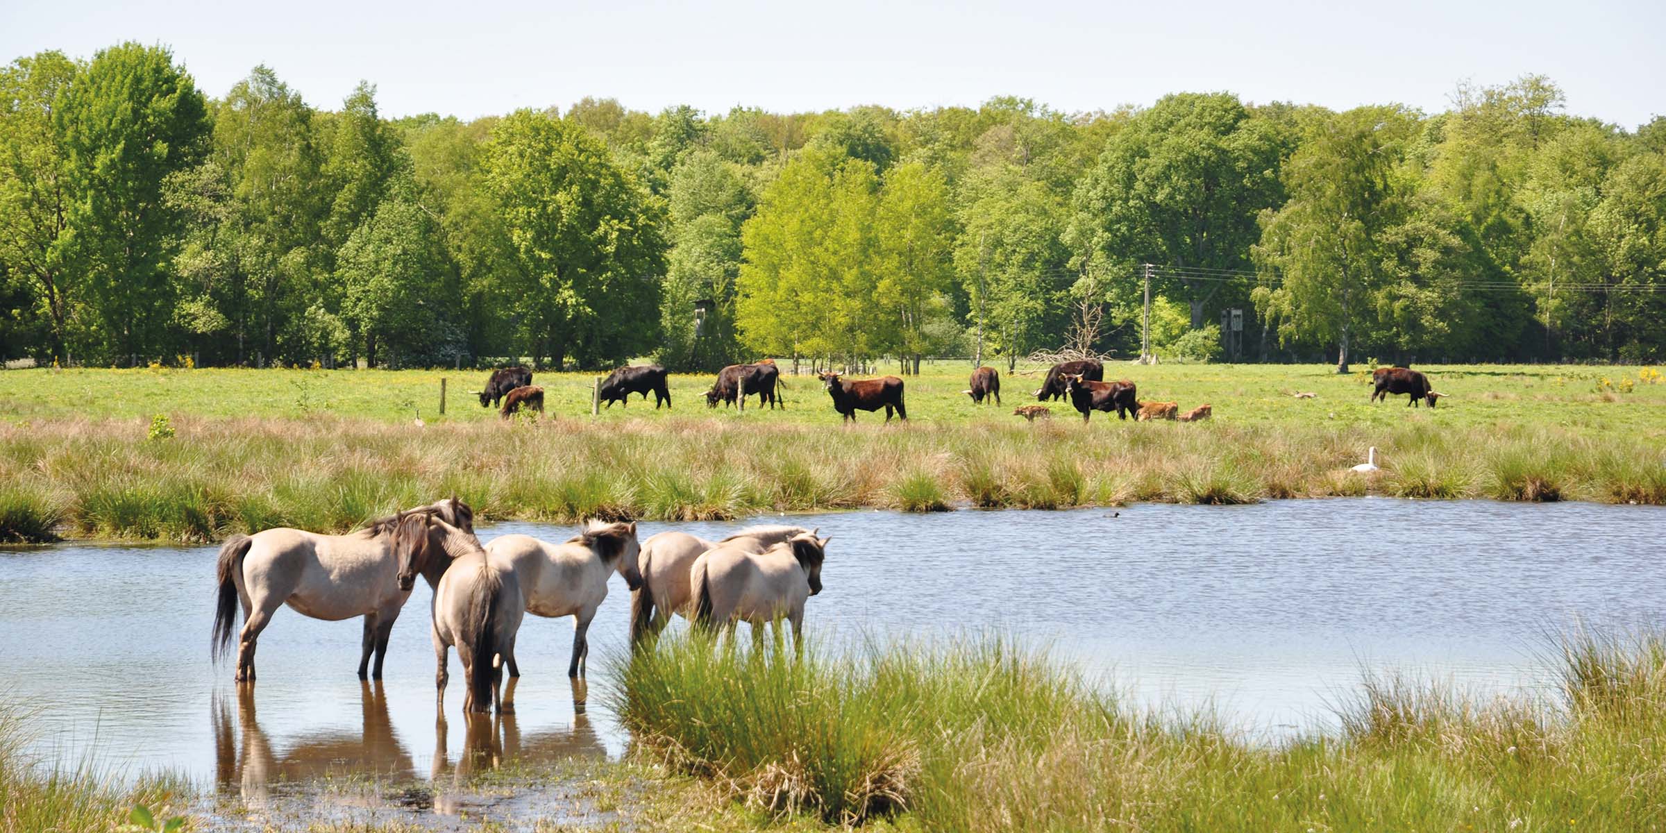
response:
M1358 498L798 523L835 538L825 591L806 613L811 633L1010 633L1141 705L1208 706L1269 736L1328 726L1326 705L1356 686L1361 668L1479 691L1538 686L1546 635L1576 621L1656 626L1666 586L1666 510L1646 506ZM641 523L640 535L715 538L738 526ZM571 528L480 528L481 540L505 533L565 540ZM240 695L232 668L208 661L215 553L0 551L0 690L38 708L43 750L248 795L327 773L426 778L466 766L465 750L545 760L625 746L600 706L603 656L625 646L628 593L616 576L590 633L588 713L575 713L563 673L571 620L526 616L520 713L470 725L455 658L450 713L436 720L420 581L380 688L355 676L358 620L283 608L262 635L260 681Z

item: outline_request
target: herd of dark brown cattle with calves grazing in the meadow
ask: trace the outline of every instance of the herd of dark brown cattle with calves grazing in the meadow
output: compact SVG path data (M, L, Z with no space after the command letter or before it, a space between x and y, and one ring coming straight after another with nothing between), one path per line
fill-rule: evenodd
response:
M878 412L880 408L885 408L885 421L891 421L893 415L908 420L908 408L903 403L903 380L896 377L853 380L845 378L843 373L825 372L816 373L816 378L826 388L841 421L856 421L858 410ZM1408 407L1428 402L1433 408L1434 402L1444 397L1429 385L1426 375L1403 367L1378 368L1371 373L1371 402L1404 393L1409 397ZM983 405L986 400L1001 403L1001 373L993 367L973 370L970 385L961 393L971 397L975 405ZM781 380L781 370L773 358L730 365L718 372L716 382L706 392L706 407L715 408L721 402L725 407L738 405L740 410L746 410L746 397L758 397L760 408L765 405L771 410L785 408L786 400L780 395L785 388L786 382ZM475 393L480 395L481 407L500 407L501 403L505 420L523 408L543 412L543 388L531 383L531 372L523 367L493 370L485 390ZM631 393L640 393L645 402L648 393L653 393L655 410L660 405L665 405L666 410L671 407L671 388L666 383L666 372L660 365L621 367L608 373L596 390L598 402L606 403L608 408L615 402L625 407ZM1081 413L1083 423L1093 412L1115 412L1120 420L1126 420L1130 415L1135 420L1176 421L1198 421L1213 416L1213 408L1208 403L1181 412L1178 402L1140 402L1135 393L1133 382L1126 378L1105 382L1105 363L1086 358L1060 362L1048 368L1035 397L1038 402L1070 400ZM1313 395L1298 393L1296 397ZM1053 413L1045 405L1023 405L1013 415L1035 421L1038 416L1051 416Z

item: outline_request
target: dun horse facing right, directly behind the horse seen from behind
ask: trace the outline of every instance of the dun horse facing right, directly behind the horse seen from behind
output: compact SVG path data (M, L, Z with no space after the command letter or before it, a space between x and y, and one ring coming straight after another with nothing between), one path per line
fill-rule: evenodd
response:
M563 545L505 535L493 538L486 551L515 570L526 595L526 613L573 616L573 658L566 665L566 676L571 678L585 671L590 655L586 633L601 600L608 598L608 576L616 571L631 590L641 586L641 573L636 571L641 545L636 543L635 523L590 521L585 531ZM510 676L520 676L513 660L508 668ZM575 701L581 701L578 690Z

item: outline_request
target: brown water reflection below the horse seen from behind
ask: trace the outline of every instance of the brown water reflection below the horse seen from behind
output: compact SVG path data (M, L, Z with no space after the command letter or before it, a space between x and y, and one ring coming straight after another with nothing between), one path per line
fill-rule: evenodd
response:
M505 683L505 700L513 696L518 678ZM573 700L583 703L583 680L573 680ZM463 751L451 763L446 750L450 726L445 711L438 711L433 725L433 810L435 813L456 815L470 810L468 781L476 773L496 770L505 761L556 761L570 758L606 758L608 750L590 725L590 716L583 708L573 713L573 725L565 730L536 731L521 735L513 711L496 716L465 711L463 713ZM450 785L443 785L450 775Z

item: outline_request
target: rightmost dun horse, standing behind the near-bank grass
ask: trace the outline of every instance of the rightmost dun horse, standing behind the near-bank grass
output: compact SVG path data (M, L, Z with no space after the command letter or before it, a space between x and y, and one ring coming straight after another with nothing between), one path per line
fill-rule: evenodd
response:
M753 641L763 641L763 625L785 616L793 625L793 648L805 625L805 600L821 591L821 560L833 538L795 535L761 553L743 546L718 546L695 560L688 580L695 585L695 625L703 630L735 630L736 620L751 623Z

